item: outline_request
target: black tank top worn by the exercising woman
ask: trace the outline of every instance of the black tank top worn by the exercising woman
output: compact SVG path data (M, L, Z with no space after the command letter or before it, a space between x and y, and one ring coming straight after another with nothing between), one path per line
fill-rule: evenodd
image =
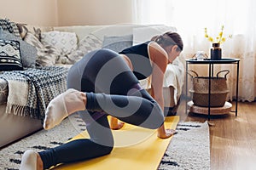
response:
M119 54L125 54L131 59L133 73L138 80L143 80L152 74L153 67L148 54L148 42L144 42L131 48L125 48Z

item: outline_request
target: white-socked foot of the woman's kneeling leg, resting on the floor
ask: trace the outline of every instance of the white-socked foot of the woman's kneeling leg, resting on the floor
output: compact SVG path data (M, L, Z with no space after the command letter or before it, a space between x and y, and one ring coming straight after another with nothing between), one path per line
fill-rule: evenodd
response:
M20 170L41 170L43 161L34 150L26 150L21 158Z

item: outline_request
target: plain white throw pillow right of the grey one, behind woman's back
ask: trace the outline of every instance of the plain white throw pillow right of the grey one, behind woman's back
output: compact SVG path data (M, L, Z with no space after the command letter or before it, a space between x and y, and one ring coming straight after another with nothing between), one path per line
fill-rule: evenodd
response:
M151 40L152 37L161 35L166 31L177 31L175 27L172 26L145 26L139 28L133 28L133 45L139 43L147 42Z

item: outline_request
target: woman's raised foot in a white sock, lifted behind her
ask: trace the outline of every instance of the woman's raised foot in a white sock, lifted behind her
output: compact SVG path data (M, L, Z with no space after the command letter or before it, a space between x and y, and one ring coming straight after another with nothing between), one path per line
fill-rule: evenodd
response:
M55 127L76 111L84 111L85 105L86 95L83 92L73 88L67 89L49 102L45 111L44 129Z

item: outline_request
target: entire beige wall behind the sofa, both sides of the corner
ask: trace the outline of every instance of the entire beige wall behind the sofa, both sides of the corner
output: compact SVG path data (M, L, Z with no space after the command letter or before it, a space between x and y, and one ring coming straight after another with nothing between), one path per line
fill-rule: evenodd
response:
M131 0L0 0L0 18L39 26L131 23Z

